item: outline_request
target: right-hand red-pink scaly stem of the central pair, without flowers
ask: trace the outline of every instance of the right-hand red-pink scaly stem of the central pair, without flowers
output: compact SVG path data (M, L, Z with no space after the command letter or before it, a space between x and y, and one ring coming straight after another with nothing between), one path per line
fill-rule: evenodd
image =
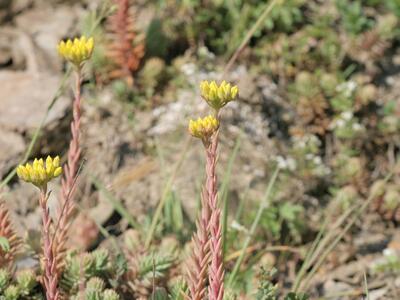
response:
M208 276L208 294L210 300L222 300L224 297L221 209L218 207L217 175L215 171L217 148L218 132L214 134L211 143L206 145L206 191L208 195L208 205L211 209L211 219L209 223L211 265Z

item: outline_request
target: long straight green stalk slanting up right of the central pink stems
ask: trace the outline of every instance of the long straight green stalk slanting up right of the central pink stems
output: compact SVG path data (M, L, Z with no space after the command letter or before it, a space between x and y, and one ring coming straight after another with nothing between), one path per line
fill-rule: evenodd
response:
M253 238L253 235L254 235L257 227L258 227L258 223L260 222L260 219L261 219L261 216L262 216L262 214L264 212L264 209L267 208L268 205L269 205L269 201L268 200L270 199L270 196L271 196L271 193L272 193L272 188L273 188L273 186L275 184L275 181L276 181L276 179L278 177L279 170L280 170L279 167L276 167L276 169L275 169L274 173L272 174L272 177L271 177L271 179L270 179L270 181L268 183L268 187L267 187L267 189L265 191L264 197L261 199L260 206L258 207L257 215L256 215L256 217L255 217L255 219L253 221L253 224L251 225L249 234L247 235L247 237L246 237L246 239L245 239L245 241L243 243L240 256L239 256L238 260L236 261L235 266L233 268L233 271L232 271L232 273L230 274L230 276L228 278L228 286L230 286L230 287L233 285L233 283L235 281L235 277L236 277L236 275L237 275L237 273L239 271L239 268L240 268L240 266L241 266L241 264L243 262L245 254L246 254L246 249L249 246L249 244L251 242L251 239Z

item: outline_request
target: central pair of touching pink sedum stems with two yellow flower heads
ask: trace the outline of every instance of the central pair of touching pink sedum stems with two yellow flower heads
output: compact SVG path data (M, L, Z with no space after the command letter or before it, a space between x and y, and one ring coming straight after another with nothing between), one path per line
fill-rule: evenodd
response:
M220 109L238 95L238 87L223 81L203 81L201 95L213 113L196 121L190 120L189 133L199 138L206 152L206 182L201 195L201 213L193 236L193 253L189 262L188 286L190 299L200 300L208 294L211 300L224 297L224 266L222 258L221 209L217 193L217 148ZM208 291L207 291L208 277Z

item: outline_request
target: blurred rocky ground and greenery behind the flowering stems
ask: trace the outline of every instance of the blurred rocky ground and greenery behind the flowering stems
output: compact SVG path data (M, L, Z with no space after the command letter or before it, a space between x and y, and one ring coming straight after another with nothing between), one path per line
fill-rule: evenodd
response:
M65 161L74 78L56 46L85 34L95 51L71 248L145 239L162 200L154 244L186 251L205 172L187 124L207 113L199 83L225 79L240 90L218 161L228 272L268 206L232 293L291 290L322 236L332 248L304 267L300 290L399 299L399 18L398 0L1 0L0 179L18 232L38 249L36 191L8 175L25 156Z

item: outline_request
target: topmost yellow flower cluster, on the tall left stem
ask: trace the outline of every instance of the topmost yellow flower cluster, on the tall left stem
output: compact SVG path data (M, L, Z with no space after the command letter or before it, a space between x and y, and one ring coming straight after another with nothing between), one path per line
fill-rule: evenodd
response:
M77 67L90 58L93 48L93 38L87 39L85 36L75 38L73 41L61 41L57 46L58 53Z

